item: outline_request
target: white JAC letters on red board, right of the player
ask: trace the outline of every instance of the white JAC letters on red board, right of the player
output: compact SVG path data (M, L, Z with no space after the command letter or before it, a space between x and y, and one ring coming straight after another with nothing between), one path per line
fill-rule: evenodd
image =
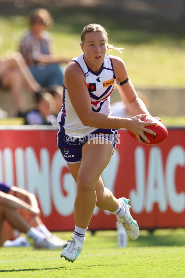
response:
M167 156L166 167L162 162L160 148L154 146L150 149L146 175L144 149L142 147L136 148L136 189L132 189L129 196L132 210L135 213L141 213L144 209L150 213L154 203L158 204L162 213L166 212L168 206L175 213L184 211L185 192L178 193L175 185L177 166L185 166L185 155L182 146L176 145L171 148Z

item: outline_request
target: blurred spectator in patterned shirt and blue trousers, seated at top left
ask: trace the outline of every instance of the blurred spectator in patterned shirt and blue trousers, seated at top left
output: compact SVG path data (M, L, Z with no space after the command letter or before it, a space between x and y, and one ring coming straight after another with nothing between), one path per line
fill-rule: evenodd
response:
M51 52L51 36L47 30L54 21L50 13L45 9L35 9L29 19L31 29L23 35L19 52L42 87L63 86L64 73L60 63L68 63L69 60L54 57Z

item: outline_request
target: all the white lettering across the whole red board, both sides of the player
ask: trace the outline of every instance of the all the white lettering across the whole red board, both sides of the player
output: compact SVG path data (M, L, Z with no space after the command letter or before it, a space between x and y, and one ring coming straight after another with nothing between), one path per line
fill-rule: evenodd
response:
M157 146L150 149L147 165L143 147L137 147L134 156L136 187L131 189L129 194L133 212L142 213L145 210L150 213L155 203L162 213L166 212L168 207L175 213L183 212L185 188L178 192L175 184L177 166L185 167L183 147L173 146L167 155L165 165L162 152ZM105 187L113 193L118 165L119 152L115 150L109 165L102 173ZM9 185L17 184L34 193L45 217L52 213L52 202L56 211L63 216L68 216L74 211L76 183L69 172L62 175L65 167L66 162L59 150L55 151L52 158L45 148L40 149L39 158L32 147L25 150L17 148L15 152L10 148L0 150L0 180L6 181ZM98 208L95 209L94 215L97 213Z

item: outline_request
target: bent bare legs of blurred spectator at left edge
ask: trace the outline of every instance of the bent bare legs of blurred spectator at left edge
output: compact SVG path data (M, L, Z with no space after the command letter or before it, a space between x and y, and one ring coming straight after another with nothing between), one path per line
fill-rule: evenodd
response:
M3 89L10 89L16 116L23 116L23 112L27 110L24 89L27 88L32 94L42 90L20 53L0 59L0 83Z

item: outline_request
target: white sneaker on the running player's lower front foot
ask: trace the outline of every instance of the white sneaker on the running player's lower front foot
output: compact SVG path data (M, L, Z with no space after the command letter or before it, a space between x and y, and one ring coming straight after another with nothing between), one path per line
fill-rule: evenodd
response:
M78 242L77 238L72 238L72 240L68 240L68 242L68 246L60 253L60 257L73 263L80 255L83 245Z

